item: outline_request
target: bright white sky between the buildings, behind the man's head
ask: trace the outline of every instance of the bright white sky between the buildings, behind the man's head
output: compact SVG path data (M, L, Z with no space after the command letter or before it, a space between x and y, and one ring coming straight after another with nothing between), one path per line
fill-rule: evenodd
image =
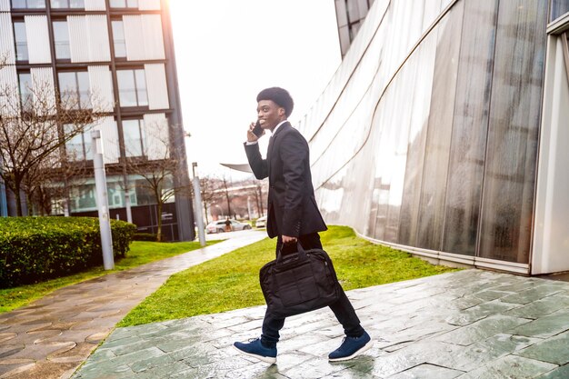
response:
M258 92L287 89L295 125L340 65L334 0L170 0L170 10L188 162L241 179L219 163L246 163Z

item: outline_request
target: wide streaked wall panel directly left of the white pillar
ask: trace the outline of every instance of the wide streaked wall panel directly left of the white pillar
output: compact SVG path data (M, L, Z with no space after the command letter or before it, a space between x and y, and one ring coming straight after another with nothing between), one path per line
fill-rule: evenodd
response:
M501 1L484 165L478 255L528 263L547 8Z

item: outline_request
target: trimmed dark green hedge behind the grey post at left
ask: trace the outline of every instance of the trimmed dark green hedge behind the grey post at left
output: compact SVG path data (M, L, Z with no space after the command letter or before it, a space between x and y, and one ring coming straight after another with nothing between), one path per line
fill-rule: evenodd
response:
M115 258L124 257L134 224L111 220ZM31 284L103 264L94 217L0 217L0 287Z

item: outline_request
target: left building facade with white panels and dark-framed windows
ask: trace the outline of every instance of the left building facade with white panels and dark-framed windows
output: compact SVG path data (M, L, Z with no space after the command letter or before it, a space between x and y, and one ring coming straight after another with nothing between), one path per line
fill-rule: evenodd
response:
M161 217L168 239L194 239L188 191L177 191L163 214L156 214L144 179L129 168L133 161L144 166L170 159L176 169L169 186L189 185L167 1L0 0L0 52L0 85L17 86L22 97L26 88L47 85L104 115L89 129L102 134L113 218L126 220L129 208L141 231L155 233ZM67 154L87 166L90 130L65 145ZM52 214L96 214L92 174L75 183L68 206L53 199ZM10 200L8 193L7 214L13 214Z

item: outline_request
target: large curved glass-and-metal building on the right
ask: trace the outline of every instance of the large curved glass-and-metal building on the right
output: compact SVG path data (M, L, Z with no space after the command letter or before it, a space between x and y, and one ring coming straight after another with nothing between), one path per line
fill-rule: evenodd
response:
M434 261L569 270L569 0L375 0L304 116L328 223Z

